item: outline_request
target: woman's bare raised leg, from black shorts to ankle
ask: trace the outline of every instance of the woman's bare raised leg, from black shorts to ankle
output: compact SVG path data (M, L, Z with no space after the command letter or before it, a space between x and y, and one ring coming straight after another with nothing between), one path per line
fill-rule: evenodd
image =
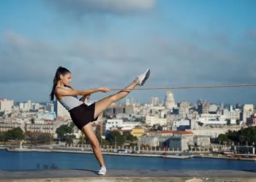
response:
M105 111L108 106L110 106L112 103L115 103L118 100L121 100L125 96L129 94L130 91L132 91L137 86L137 82L133 81L129 86L125 87L123 90L120 90L116 94L109 95L106 98L102 98L101 100L97 101L95 103L95 111L94 111L94 118L99 116L103 111Z

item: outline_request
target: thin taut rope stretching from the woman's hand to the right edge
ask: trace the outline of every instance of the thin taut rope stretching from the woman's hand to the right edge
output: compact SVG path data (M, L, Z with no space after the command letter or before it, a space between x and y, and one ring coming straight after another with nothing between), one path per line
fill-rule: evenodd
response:
M256 84L222 84L222 85L203 85L203 86L181 86L181 87L151 87L151 88L135 88L135 89L110 89L115 90L178 90L178 89L211 89L211 88L222 88L222 87L256 87Z

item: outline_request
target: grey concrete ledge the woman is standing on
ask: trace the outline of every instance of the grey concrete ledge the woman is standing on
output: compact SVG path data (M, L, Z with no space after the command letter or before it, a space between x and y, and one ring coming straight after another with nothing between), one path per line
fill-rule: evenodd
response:
M0 181L256 181L256 171L241 170L0 170Z

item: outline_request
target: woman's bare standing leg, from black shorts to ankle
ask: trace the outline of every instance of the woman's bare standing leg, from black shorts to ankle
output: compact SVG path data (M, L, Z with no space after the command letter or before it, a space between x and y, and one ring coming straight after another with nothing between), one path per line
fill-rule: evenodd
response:
M83 128L82 128L82 132L86 135L87 138L89 138L89 140L91 141L91 148L94 151L94 156L96 157L96 159L99 162L99 165L105 166L105 162L104 159L102 157L102 151L100 150L99 147L99 141L96 137L96 135L94 134L94 130L91 127L91 122L89 124L86 124Z

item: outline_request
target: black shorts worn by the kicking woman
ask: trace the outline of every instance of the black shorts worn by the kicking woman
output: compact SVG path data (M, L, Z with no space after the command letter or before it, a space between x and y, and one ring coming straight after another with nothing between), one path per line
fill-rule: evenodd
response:
M83 126L98 119L98 116L94 119L94 111L95 103L92 103L90 106L82 103L80 106L70 109L69 114L74 124L82 130Z

